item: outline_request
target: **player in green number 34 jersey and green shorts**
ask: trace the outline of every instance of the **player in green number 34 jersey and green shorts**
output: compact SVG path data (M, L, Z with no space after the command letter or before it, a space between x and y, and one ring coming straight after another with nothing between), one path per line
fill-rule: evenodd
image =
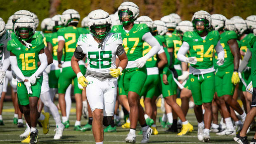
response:
M215 47L218 53L218 65L224 62L224 51L219 42L218 31L209 31L211 15L208 12L201 10L194 13L192 23L194 31L184 33L184 42L178 52L178 59L190 63L189 80L198 121L197 137L200 141L208 142L212 120L211 102L214 94L213 48ZM188 50L190 57L185 57ZM205 109L204 119L202 104Z

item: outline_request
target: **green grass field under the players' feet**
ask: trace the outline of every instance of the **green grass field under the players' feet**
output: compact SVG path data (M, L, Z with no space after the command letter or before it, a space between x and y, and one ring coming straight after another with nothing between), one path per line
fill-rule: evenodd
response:
M24 132L26 129L18 128L17 125L13 124L13 112L8 112L9 109L12 109L11 102L4 103L4 111L2 113L2 117L4 120L5 125L0 126L0 144L19 144L21 142L21 138L19 135ZM7 110L8 109L8 110ZM72 103L72 109L75 109L75 103ZM10 111L10 110L9 110ZM157 118L162 115L159 113ZM150 137L149 143L154 144L201 144L203 142L199 142L197 139L197 120L194 116L194 112L192 109L189 110L187 115L187 119L189 122L194 125L194 131L188 133L184 136L177 136L177 133L165 133L164 128L160 127L160 124L157 120L157 128L159 131L159 135L152 135ZM73 126L76 121L76 115L74 112L71 112L71 116L69 118L71 126L68 129L65 129L63 132L62 139L60 140L53 140L55 135L55 121L50 117L50 132L47 135L43 134L42 128L38 127L39 136L38 136L38 144L95 144L94 138L91 131L86 132L78 132L73 131ZM88 119L82 118L81 124L82 126L88 122ZM25 122L24 122L25 123ZM140 126L137 127L137 132L139 132ZM117 127L117 132L113 133L104 133L104 144L121 144L125 143L124 139L128 134L128 129L122 129L121 127ZM249 142L251 141L252 137L254 136L254 131L249 132L248 135ZM136 143L140 143L142 139L142 135L137 135ZM211 144L235 144L233 141L233 136L217 136L215 133L211 133Z

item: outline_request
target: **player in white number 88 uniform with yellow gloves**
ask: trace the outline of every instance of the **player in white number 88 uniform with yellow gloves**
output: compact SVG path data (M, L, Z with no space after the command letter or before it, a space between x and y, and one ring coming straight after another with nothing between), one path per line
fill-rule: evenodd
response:
M90 34L78 38L77 47L71 59L71 66L78 77L78 87L86 87L86 95L92 109L92 132L97 144L103 144L103 125L108 126L114 115L117 77L128 63L123 49L121 33L109 33L111 20L109 14L101 9L89 14ZM116 55L120 59L116 68ZM78 61L87 58L85 77L80 71Z

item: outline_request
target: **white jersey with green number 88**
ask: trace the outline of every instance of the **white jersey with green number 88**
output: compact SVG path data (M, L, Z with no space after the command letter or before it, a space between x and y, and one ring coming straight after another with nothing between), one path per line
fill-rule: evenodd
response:
M122 45L121 33L109 33L102 43L102 47L94 40L92 34L81 34L77 45L86 55L87 70L99 73L109 73L110 68L116 68L116 55L118 47ZM123 48L123 47L121 47Z

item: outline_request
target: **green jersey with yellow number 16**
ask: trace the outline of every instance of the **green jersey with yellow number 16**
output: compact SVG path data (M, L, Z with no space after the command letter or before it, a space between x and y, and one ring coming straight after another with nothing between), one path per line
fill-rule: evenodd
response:
M45 48L43 42L43 36L37 37L33 35L31 45L32 48L28 48L21 44L18 38L13 37L7 43L7 50L15 54L17 57L18 67L24 76L31 76L38 69L38 54L40 50Z

